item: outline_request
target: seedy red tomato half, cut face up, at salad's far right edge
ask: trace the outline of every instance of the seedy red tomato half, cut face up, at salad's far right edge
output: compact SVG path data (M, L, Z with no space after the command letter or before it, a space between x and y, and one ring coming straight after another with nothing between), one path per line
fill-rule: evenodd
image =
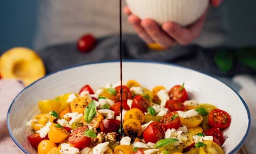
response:
M220 109L213 109L208 118L208 123L212 128L224 129L231 123L229 114Z

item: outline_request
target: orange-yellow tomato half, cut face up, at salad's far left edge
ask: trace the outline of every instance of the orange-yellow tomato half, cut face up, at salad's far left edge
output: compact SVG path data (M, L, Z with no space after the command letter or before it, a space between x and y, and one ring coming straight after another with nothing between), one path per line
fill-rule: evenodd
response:
M32 127L37 131L40 130L41 127L44 127L48 122L53 123L53 118L50 114L38 114L32 118Z

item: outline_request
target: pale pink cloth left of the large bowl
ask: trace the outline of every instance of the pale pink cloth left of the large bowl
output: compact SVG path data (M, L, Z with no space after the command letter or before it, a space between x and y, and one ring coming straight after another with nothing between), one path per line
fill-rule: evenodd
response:
M8 133L6 116L12 100L24 87L18 80L0 79L0 153L20 153Z

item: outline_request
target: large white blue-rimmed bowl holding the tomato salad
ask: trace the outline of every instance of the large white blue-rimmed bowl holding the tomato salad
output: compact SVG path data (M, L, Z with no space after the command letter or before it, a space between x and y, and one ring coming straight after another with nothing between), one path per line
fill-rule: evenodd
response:
M117 83L119 70L119 62L85 64L59 70L26 87L13 100L7 115L8 130L15 144L24 153L36 153L27 140L32 132L26 122L39 113L39 100L76 92L85 84L96 89L105 86L107 82ZM225 153L234 153L244 143L250 126L248 107L234 90L219 80L166 63L128 60L123 63L123 78L124 81L135 79L149 89L157 85L169 89L185 82L190 99L213 104L231 115L231 125L224 130Z

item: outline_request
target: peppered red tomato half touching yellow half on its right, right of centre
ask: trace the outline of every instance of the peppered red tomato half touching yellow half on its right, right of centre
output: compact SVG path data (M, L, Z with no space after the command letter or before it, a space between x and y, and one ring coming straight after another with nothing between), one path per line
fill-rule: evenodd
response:
M175 115L178 114L177 112L168 112L167 114L165 114L162 119L160 120L160 124L162 125L162 127L167 130L167 129L179 129L181 126L181 119L179 116L177 116L176 118Z

